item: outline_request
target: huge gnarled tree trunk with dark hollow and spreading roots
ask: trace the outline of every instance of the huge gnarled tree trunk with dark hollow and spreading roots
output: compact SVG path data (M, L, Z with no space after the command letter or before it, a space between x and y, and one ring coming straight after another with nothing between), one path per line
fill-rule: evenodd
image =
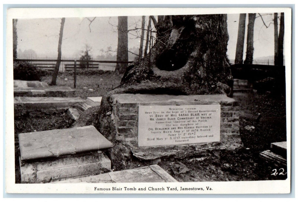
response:
M199 95L230 93L233 78L226 51L226 15L164 16L156 24L157 39L150 57L132 63L121 84L106 93L100 109L80 116L76 126L94 125L114 143L111 159L121 166L130 158L117 137L110 96L121 93ZM87 112L86 112L87 113ZM94 117L98 117L95 118ZM118 139L117 139L118 138ZM117 156L117 158L114 158ZM116 167L117 170L123 167Z

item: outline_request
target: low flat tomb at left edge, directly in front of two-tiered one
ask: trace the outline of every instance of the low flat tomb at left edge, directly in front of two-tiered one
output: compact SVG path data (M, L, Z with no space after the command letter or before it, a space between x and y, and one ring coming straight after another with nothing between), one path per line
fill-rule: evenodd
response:
M62 112L84 101L75 97L14 97L14 115L19 117L28 113L34 115Z

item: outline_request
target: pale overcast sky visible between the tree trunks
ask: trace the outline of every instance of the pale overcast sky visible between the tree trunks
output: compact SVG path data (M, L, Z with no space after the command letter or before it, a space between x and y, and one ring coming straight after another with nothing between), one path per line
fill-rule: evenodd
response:
M274 26L273 15L260 13L264 22L257 14L254 24L254 58L274 55ZM228 14L228 51L229 59L235 59L239 14ZM62 57L80 57L86 45L91 47L93 56L101 54L116 54L117 50L117 17L96 17L90 24L89 18L66 18L63 29ZM128 29L141 27L141 16L128 17ZM17 22L18 46L24 51L34 50L38 55L56 56L61 18L19 19ZM248 15L246 15L246 29ZM90 29L89 29L90 24ZM145 29L148 16L145 18ZM246 30L247 31L247 30ZM128 48L139 48L139 32L131 31L128 35ZM145 32L146 36L146 32ZM245 36L246 39L246 36ZM144 42L145 45L145 42ZM111 51L112 50L112 51ZM243 59L245 59L246 40Z

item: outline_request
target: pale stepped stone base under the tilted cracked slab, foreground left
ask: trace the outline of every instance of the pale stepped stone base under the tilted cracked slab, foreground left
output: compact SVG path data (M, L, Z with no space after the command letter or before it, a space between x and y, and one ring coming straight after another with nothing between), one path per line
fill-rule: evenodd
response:
M101 151L20 162L22 183L48 183L111 171L111 161Z

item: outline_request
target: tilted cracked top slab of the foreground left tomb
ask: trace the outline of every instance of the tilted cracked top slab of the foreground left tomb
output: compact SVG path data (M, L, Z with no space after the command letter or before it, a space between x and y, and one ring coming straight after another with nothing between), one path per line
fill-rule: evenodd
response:
M103 150L113 146L94 126L20 133L18 138L21 161Z

